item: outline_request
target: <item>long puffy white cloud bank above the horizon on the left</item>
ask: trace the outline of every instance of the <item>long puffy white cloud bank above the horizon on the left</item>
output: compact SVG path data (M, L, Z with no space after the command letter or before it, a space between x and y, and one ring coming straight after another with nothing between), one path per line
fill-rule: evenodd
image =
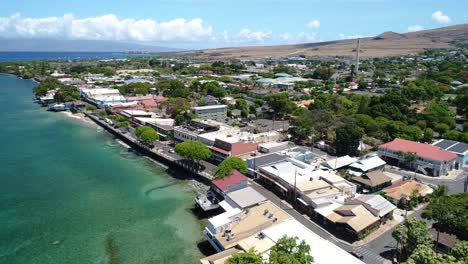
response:
M118 41L199 41L210 38L211 26L195 18L165 22L152 19L120 19L113 14L98 17L24 18L20 14L0 17L0 35L6 38L58 38Z

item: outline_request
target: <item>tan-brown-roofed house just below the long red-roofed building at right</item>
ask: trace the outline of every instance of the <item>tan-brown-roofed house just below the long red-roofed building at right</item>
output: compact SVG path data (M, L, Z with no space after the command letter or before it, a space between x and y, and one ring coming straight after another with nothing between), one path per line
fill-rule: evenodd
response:
M415 180L401 181L383 189L387 198L393 204L399 205L410 200L413 191L416 191L420 199L426 199L432 193L432 188Z

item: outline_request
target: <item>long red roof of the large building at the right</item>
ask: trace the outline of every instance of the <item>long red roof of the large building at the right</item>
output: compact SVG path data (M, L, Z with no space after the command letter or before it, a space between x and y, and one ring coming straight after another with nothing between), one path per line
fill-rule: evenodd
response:
M395 138L391 142L380 145L380 147L393 151L415 152L419 157L438 161L449 161L457 158L456 154L439 147L401 138Z

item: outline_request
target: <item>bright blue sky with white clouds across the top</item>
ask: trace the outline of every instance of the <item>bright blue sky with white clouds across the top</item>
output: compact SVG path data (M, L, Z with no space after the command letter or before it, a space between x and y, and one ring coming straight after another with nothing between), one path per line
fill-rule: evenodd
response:
M466 0L0 1L0 36L180 48L317 42L468 23Z

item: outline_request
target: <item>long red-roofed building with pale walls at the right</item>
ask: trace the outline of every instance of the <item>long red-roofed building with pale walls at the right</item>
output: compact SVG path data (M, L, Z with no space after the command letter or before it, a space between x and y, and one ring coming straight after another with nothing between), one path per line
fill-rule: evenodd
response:
M405 153L414 153L416 160L407 161ZM396 138L380 145L379 156L392 165L405 165L426 175L441 176L456 168L458 156L438 146Z

